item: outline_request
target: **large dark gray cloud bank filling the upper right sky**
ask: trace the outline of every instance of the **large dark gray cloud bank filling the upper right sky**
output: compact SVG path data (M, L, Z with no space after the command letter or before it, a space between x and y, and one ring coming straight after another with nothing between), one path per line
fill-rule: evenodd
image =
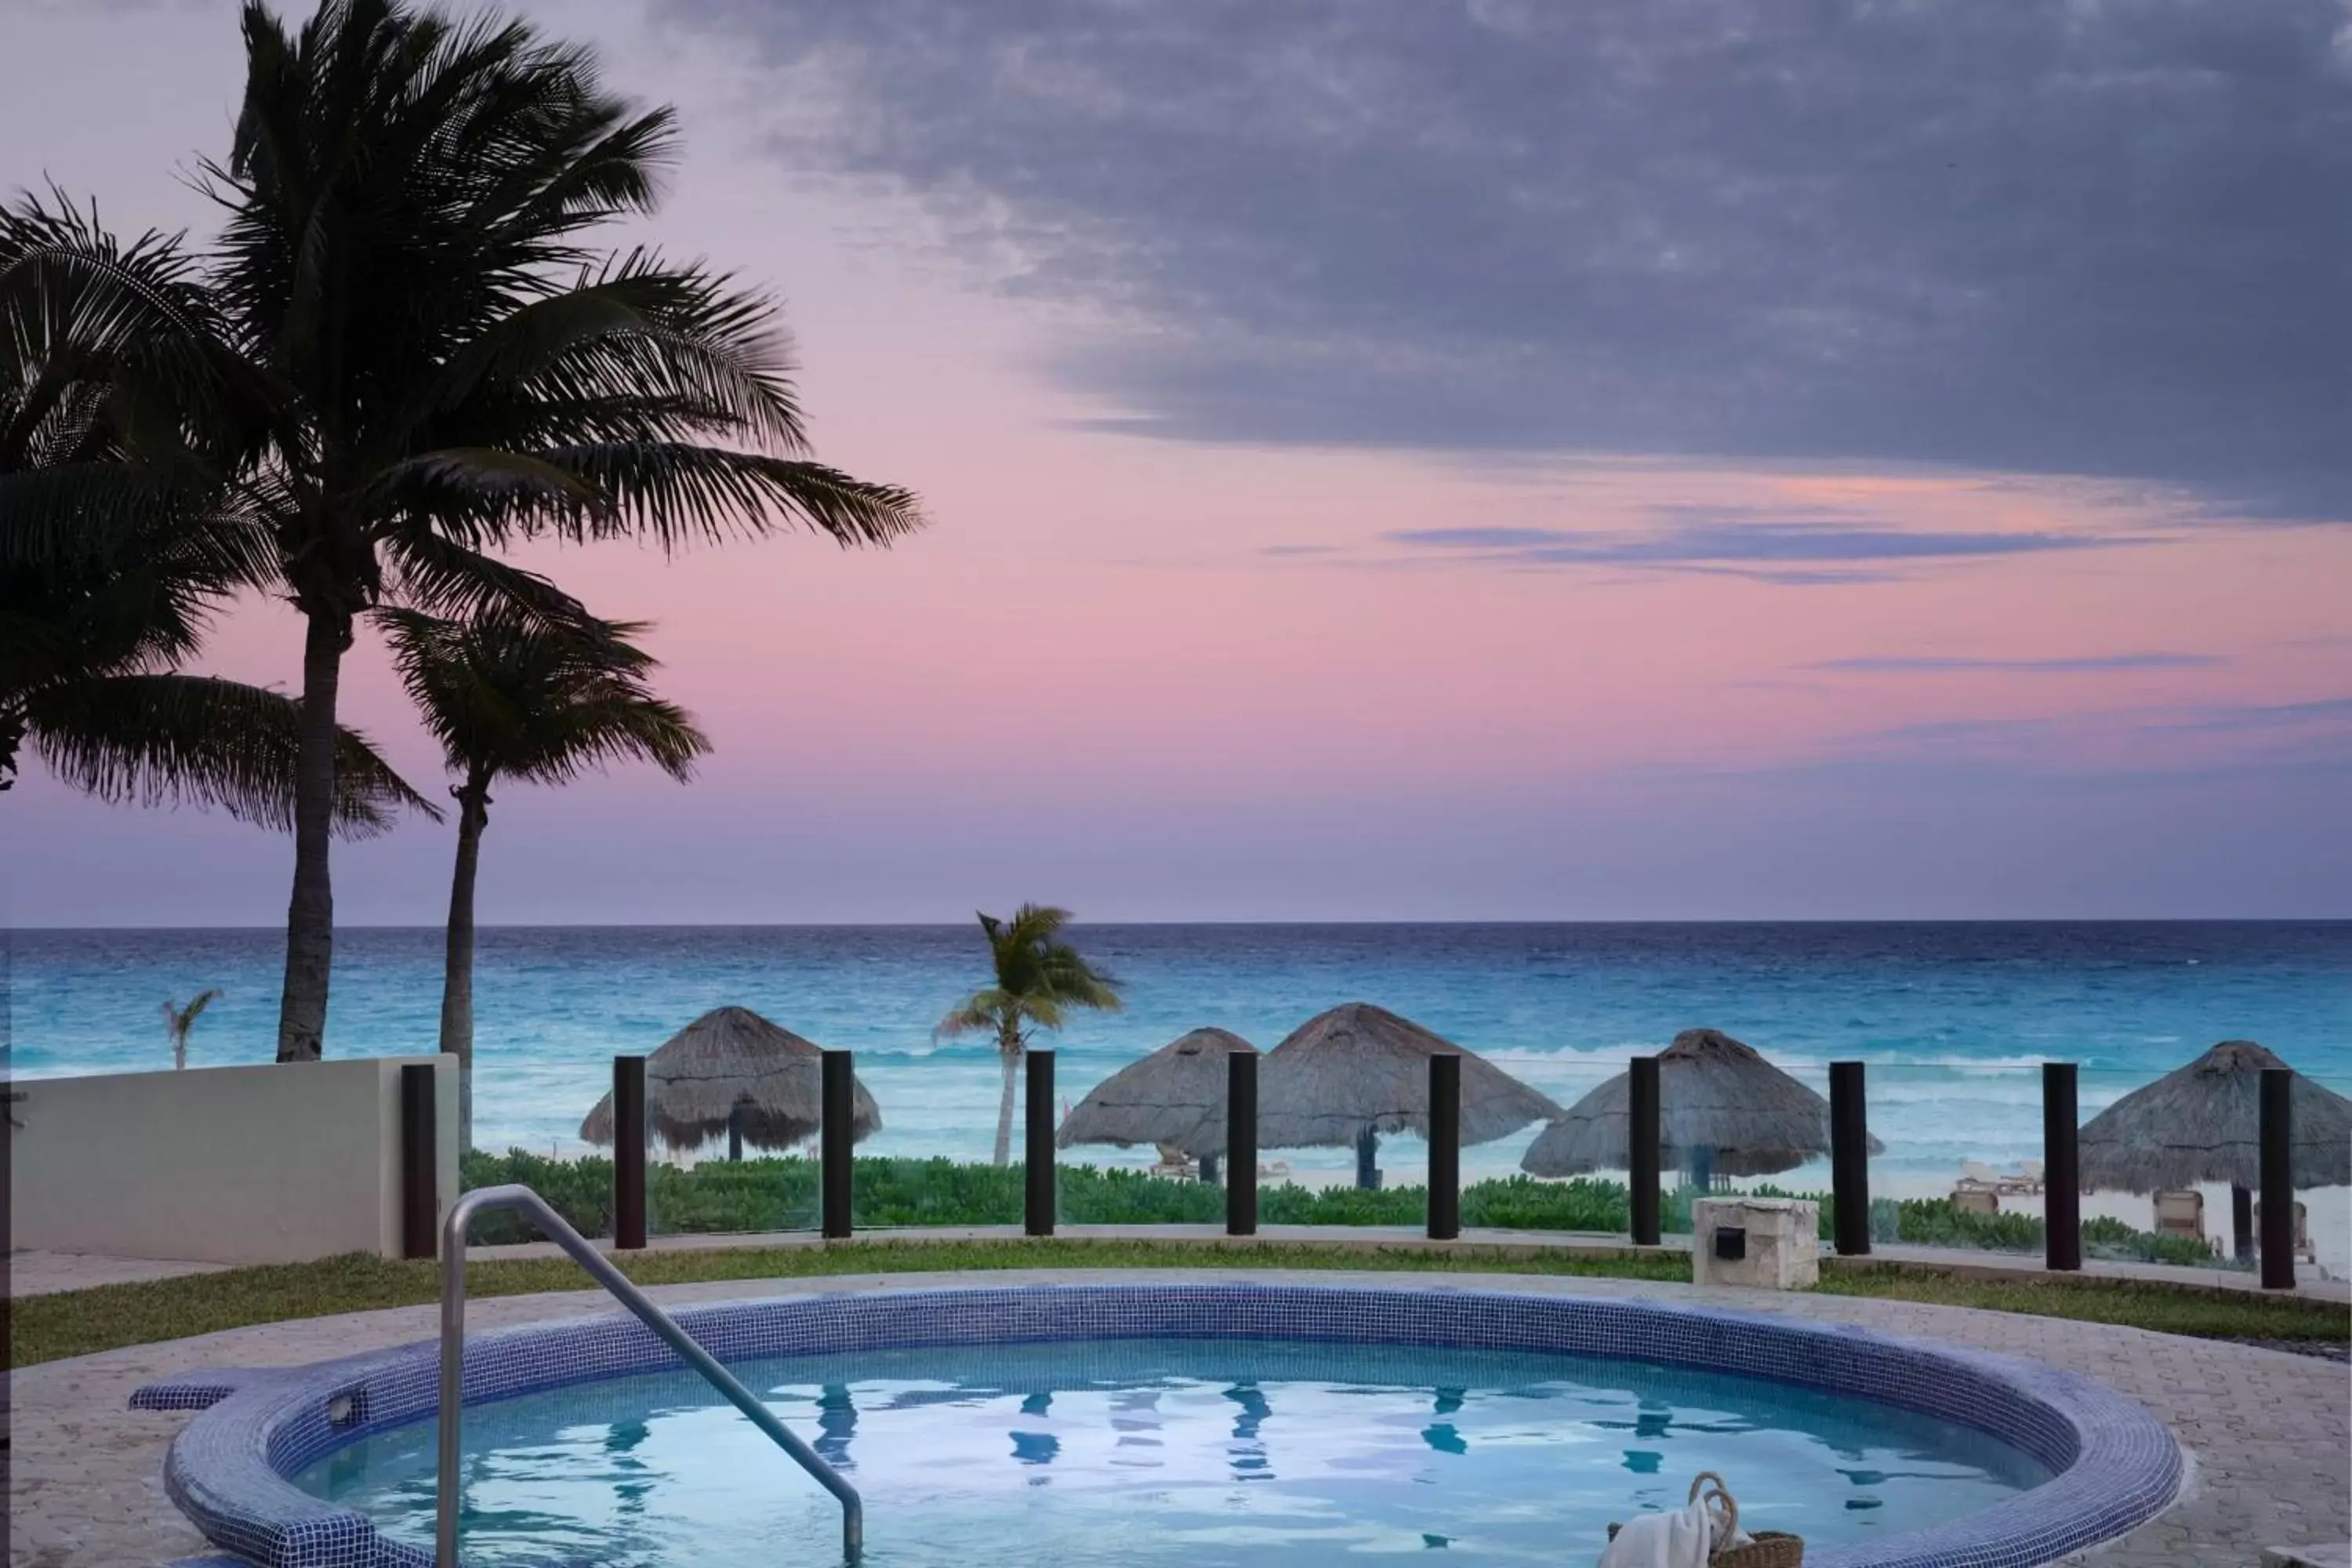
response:
M656 0L1185 440L2352 517L2338 0Z

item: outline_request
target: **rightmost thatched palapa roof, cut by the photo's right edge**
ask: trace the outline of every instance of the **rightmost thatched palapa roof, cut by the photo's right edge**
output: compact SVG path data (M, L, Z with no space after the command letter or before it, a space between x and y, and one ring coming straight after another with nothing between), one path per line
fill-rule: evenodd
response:
M2263 1067L2251 1039L2225 1039L2187 1067L2091 1117L2077 1143L2084 1190L2164 1192L2263 1180ZM2288 1093L2296 1187L2352 1182L2352 1100L2296 1074Z

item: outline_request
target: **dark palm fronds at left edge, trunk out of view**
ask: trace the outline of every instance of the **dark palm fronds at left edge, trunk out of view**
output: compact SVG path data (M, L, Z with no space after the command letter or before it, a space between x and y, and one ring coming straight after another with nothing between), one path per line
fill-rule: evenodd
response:
M212 348L174 237L125 244L64 197L0 212L0 790L31 743L101 799L294 825L301 703L179 670L268 557L160 416ZM339 832L433 811L350 729L336 769Z

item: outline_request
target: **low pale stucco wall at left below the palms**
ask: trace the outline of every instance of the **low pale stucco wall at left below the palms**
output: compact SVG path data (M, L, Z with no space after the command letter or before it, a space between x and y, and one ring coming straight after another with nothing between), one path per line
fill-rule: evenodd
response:
M456 1199L456 1058L19 1079L21 1248L301 1262L400 1255L400 1067L435 1065L440 1206Z

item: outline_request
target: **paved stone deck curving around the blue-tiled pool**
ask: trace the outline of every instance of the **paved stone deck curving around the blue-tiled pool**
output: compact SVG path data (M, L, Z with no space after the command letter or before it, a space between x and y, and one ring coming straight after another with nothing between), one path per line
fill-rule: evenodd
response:
M854 1258L842 1258L854 1269ZM1131 1272L1051 1269L1000 1274L854 1274L837 1279L666 1286L663 1302L743 1300L818 1291L906 1291L948 1284L1124 1281ZM2183 1340L1964 1307L1844 1295L1759 1295L1618 1279L1510 1274L1282 1274L1268 1269L1152 1269L1145 1279L1282 1279L1409 1288L1651 1295L1745 1312L1867 1324L1891 1333L2025 1354L2114 1387L2161 1418L2192 1455L2183 1502L2124 1542L2093 1554L2098 1568L2230 1568L2265 1547L2352 1537L2352 1380L2333 1366L2241 1345ZM468 1307L468 1324L546 1321L612 1312L595 1291L517 1295ZM216 1366L296 1366L430 1338L435 1307L268 1324L141 1345L14 1375L9 1476L12 1568L158 1568L205 1544L162 1495L162 1455L188 1420L127 1410L141 1382ZM1599 1547L1595 1544L1595 1556ZM1573 1563L1576 1559L1564 1559Z

